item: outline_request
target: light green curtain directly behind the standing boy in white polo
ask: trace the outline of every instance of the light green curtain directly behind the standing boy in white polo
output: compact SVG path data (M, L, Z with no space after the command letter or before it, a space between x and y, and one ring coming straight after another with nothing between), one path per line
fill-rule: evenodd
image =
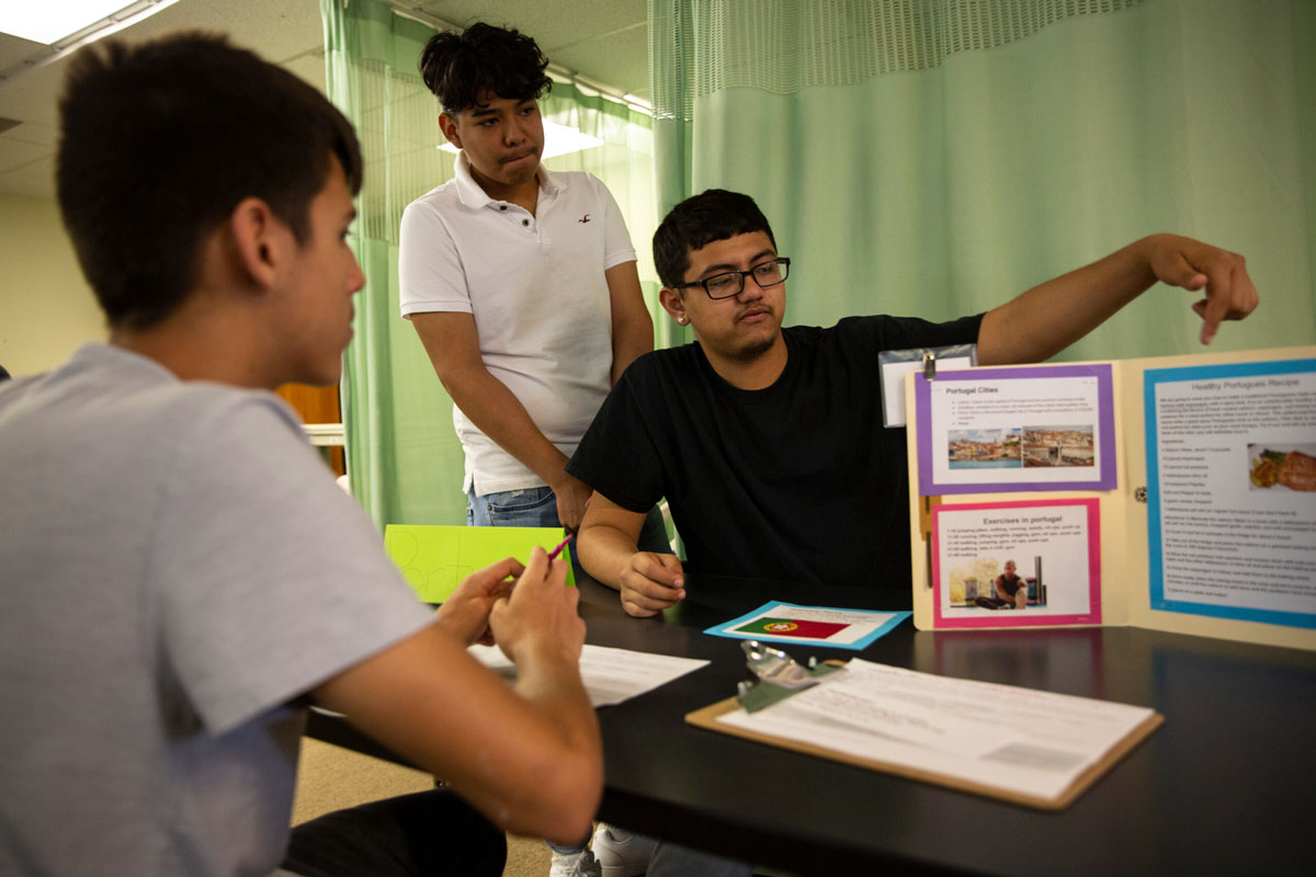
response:
M397 305L403 208L449 180L455 159L437 149L445 142L438 103L416 67L434 30L379 0L321 0L320 9L329 97L357 126L366 162L351 230L366 288L357 296L355 337L342 380L351 490L379 526L463 523L463 459L453 431L453 402ZM542 112L547 121L603 141L544 163L590 171L612 191L654 309L658 284L649 241L657 208L649 116L570 82L554 82Z

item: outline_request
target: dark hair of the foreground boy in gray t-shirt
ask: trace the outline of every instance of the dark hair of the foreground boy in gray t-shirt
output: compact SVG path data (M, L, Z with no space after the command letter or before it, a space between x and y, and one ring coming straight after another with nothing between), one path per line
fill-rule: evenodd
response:
M330 155L361 191L361 149L342 113L221 36L82 50L59 128L59 209L112 326L168 317L196 280L201 238L242 199L266 201L301 243Z

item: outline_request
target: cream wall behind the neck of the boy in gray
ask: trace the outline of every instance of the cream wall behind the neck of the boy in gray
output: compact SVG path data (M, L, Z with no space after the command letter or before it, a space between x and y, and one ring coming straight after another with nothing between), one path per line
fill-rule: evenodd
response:
M47 371L105 339L53 200L0 193L0 366L12 375Z

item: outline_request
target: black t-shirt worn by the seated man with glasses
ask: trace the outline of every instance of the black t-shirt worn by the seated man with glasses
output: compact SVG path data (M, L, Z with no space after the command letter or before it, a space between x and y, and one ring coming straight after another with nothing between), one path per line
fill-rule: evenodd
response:
M632 511L666 497L691 572L875 586L907 607L905 433L882 425L878 354L973 343L980 322L783 329L786 369L759 391L719 377L697 343L646 354L567 472Z

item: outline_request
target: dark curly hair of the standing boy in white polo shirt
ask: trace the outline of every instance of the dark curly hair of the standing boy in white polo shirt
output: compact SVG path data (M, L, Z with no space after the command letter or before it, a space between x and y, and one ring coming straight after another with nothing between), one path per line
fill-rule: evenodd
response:
M483 21L434 34L420 55L420 75L445 113L482 107L491 96L538 100L553 88L547 66L533 39Z

